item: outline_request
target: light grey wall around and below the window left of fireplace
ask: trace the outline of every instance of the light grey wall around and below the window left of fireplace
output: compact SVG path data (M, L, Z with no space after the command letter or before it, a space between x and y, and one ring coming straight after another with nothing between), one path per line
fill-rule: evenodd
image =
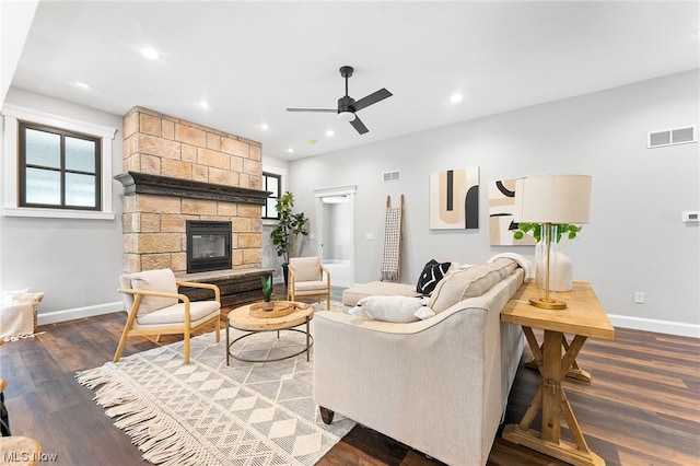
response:
M14 88L5 103L118 128L107 168L113 175L121 172L121 116ZM116 292L122 270L121 193L121 184L113 180L114 220L0 217L0 288L44 292L39 324L122 307Z

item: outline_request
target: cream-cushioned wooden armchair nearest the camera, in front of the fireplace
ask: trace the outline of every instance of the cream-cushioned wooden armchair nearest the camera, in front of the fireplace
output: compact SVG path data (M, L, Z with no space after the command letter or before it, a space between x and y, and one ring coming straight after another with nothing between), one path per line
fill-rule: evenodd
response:
M183 334L185 364L189 363L189 338L192 331L213 323L217 341L220 339L221 293L219 287L209 283L176 281L170 269L147 270L119 278L124 303L129 313L119 346L114 354L118 362L127 338L137 335ZM179 287L206 288L213 291L212 301L190 302L178 293Z

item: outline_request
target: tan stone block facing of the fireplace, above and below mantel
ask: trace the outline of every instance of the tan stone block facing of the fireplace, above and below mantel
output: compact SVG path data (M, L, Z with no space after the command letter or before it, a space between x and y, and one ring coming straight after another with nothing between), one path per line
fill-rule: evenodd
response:
M135 107L124 117L124 171L261 189L261 145ZM232 222L234 269L260 267L260 206L138 194L124 197L125 270L187 269L186 220Z

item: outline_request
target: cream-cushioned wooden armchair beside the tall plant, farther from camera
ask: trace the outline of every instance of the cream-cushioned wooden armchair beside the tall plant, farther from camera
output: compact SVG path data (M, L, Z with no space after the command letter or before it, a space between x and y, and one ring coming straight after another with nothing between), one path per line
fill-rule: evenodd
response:
M319 257L293 257L289 260L287 295L290 301L316 298L318 302L325 296L326 310L330 311L330 271L320 264Z

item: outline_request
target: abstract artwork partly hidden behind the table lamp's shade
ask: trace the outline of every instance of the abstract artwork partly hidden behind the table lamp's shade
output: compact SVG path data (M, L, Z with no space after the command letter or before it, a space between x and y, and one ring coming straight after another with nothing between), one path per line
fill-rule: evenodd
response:
M513 220L515 208L515 182L518 178L497 179L489 183L489 238L491 246L534 245L535 238L525 235L513 237L517 223Z

